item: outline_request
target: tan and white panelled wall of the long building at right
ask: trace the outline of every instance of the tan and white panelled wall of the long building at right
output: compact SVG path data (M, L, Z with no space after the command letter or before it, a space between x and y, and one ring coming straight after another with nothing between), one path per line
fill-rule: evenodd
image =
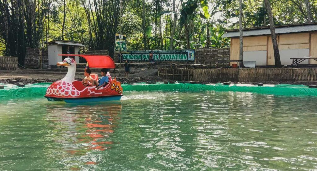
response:
M313 35L313 37L310 37ZM292 57L317 56L317 34L292 33L277 36L282 65L290 65ZM239 59L239 38L231 38L230 59ZM309 49L309 47L311 49ZM274 51L271 36L243 37L243 60L256 61L256 65L274 65ZM317 61L310 61L316 63ZM306 60L301 64L308 64Z

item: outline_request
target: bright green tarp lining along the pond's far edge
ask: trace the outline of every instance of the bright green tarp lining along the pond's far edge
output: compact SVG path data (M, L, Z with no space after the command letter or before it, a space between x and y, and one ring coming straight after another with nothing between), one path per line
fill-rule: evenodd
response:
M28 84L25 87L17 87L11 84L4 85L4 89L0 89L1 97L43 97L46 89L51 83L36 83ZM175 84L146 84L138 83L133 85L122 84L124 91L159 91L159 90L214 90L214 91L240 91L240 92L252 92L252 93L265 93L265 94L277 94L277 95L310 95L317 96L317 89L308 88L304 85L290 85L290 84L278 84L278 85L263 85L261 87L251 84L231 84L223 85L217 84L189 84L189 83L175 83Z

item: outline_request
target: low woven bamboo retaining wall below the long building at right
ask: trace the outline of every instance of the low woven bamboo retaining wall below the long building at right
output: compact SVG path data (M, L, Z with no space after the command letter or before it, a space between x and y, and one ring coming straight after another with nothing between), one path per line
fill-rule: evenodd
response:
M159 76L169 80L199 82L313 82L315 68L256 68L256 69L170 69L159 68Z

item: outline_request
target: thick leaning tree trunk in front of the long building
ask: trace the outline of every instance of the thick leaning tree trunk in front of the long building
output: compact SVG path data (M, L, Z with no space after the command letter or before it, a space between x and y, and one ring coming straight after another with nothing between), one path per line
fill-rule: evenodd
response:
M271 37L272 37L273 50L274 50L275 67L282 68L281 59L280 59L280 52L278 49L277 40L276 40L276 36L275 36L275 27L274 27L271 5L270 5L269 0L264 0L264 3L265 3L266 11L268 14L269 23L270 23Z

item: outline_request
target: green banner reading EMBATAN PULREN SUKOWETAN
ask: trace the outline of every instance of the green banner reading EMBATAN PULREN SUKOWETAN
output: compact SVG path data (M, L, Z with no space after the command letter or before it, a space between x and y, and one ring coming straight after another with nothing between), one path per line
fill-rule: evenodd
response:
M150 51L131 51L129 54L122 54L123 60L148 61ZM153 51L155 61L193 61L195 50L155 50Z

